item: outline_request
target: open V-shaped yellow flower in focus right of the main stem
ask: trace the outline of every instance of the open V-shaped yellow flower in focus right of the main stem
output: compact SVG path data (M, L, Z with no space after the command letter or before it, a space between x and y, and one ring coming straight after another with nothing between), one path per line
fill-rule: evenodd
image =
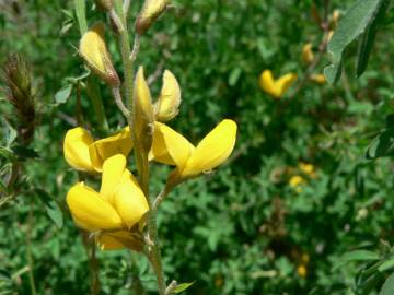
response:
M164 123L154 123L150 160L175 165L174 182L209 172L222 164L235 145L236 123L225 119L195 148L187 139Z

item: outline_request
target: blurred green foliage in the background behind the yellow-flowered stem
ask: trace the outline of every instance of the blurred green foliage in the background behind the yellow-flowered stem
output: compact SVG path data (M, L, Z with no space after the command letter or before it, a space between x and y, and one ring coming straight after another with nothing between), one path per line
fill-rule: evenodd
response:
M131 2L135 16L141 1ZM239 123L228 163L176 188L159 214L165 273L195 281L187 294L355 294L359 266L336 268L343 255L393 241L393 163L364 156L393 111L390 28L379 33L360 79L354 78L351 62L335 86L311 79L329 64L325 34L354 2L178 0L142 37L137 63L151 80L159 78L152 83L154 96L164 69L179 81L183 101L170 123L174 129L197 143L223 118ZM97 20L107 22L88 1L89 25ZM72 1L0 0L0 64L15 52L32 64L39 106L31 144L37 155L26 158L25 180L60 203L78 179L62 156L63 135L77 123L76 108L84 126L103 135L85 91L72 86L85 73L79 39ZM106 39L120 71L111 30ZM309 43L312 66L302 58ZM274 98L259 86L266 69L276 78L296 73L298 80ZM100 88L116 131L125 122L106 86ZM0 143L7 145L12 113L3 94L0 110ZM153 192L169 172L152 164ZM0 294L30 294L27 237L38 294L89 294L79 229L69 214L60 228L46 213L28 192L1 206ZM144 258L126 250L97 251L97 260L102 294L130 294L137 274L154 294Z

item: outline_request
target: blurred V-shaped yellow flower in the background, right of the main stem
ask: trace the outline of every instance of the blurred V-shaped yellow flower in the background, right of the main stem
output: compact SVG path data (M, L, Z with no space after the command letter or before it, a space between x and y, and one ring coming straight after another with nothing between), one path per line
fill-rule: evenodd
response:
M274 80L271 71L265 70L259 76L259 86L275 98L280 98L296 80L297 74L294 73L288 73Z

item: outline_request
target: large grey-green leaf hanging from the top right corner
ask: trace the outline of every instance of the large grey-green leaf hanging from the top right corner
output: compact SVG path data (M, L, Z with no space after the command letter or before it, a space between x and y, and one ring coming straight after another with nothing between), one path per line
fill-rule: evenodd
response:
M385 0L358 0L339 22L327 48L332 55L332 64L324 69L328 83L334 84L340 78L341 59L346 48L366 32L383 1Z

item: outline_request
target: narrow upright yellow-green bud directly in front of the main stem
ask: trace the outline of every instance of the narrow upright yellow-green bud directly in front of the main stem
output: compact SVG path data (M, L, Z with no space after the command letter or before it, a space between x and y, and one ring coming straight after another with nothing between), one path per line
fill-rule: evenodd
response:
M144 152L149 152L152 145L152 128L154 122L151 94L143 76L143 68L140 67L135 81L134 116L137 141Z

